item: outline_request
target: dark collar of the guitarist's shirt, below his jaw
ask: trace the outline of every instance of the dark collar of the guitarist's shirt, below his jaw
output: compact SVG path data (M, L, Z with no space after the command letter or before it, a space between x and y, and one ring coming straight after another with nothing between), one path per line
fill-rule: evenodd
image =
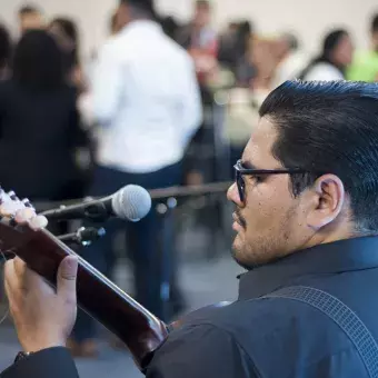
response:
M239 299L252 299L298 278L378 267L378 237L339 240L292 253L240 276Z

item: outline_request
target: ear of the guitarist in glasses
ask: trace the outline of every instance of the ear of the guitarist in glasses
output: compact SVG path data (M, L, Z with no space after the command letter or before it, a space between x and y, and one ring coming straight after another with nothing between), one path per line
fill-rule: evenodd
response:
M310 190L308 226L320 229L340 215L346 200L342 181L335 175L319 177Z

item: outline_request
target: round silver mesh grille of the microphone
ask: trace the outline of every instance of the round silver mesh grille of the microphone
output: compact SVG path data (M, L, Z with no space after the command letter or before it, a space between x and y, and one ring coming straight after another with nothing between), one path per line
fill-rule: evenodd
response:
M113 196L111 205L119 218L137 222L150 212L152 200L145 188L129 185Z

